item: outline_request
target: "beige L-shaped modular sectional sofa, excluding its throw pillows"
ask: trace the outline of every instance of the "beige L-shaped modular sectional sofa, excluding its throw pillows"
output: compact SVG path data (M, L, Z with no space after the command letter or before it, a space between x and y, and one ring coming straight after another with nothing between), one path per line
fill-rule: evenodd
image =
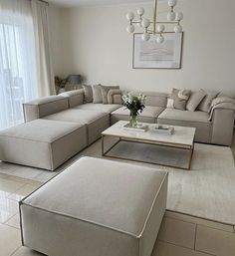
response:
M210 119L206 112L166 108L167 94L142 94L146 108L139 122L193 127L197 142L231 145L234 110L215 109ZM121 105L85 104L84 97L84 91L77 90L24 104L26 124L0 132L0 159L54 170L96 141L104 129L129 118Z

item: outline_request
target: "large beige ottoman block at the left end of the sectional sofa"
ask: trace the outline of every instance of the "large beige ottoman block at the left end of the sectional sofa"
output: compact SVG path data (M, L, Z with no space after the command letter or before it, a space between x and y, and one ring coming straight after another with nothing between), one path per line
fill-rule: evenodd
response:
M0 131L0 159L54 170L87 146L86 127L35 120Z

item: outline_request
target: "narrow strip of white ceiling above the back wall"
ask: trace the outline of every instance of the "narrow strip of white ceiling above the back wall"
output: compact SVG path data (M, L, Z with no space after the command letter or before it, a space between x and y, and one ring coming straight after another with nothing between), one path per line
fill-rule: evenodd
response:
M61 7L152 2L152 0L47 0L47 1L52 4L60 5Z

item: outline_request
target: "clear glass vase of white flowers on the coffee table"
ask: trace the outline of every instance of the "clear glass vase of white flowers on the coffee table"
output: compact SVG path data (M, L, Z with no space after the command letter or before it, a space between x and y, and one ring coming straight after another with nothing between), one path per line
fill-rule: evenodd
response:
M134 96L131 94L123 95L123 105L129 110L129 128L137 127L137 116L142 113L145 108L146 97L139 94Z

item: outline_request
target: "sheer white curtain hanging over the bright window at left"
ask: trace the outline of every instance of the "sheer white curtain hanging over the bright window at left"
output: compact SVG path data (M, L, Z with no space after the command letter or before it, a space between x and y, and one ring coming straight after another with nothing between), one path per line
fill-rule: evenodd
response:
M22 104L38 97L31 3L0 0L0 129L23 122Z

